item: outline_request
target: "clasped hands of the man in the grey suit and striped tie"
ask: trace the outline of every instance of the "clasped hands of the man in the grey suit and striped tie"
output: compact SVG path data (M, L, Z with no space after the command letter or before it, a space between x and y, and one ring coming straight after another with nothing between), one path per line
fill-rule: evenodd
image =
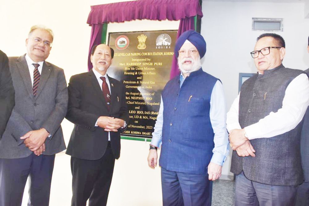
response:
M35 155L40 156L45 151L45 140L49 133L41 128L40 130L32 130L24 134L20 139L29 150L33 151Z

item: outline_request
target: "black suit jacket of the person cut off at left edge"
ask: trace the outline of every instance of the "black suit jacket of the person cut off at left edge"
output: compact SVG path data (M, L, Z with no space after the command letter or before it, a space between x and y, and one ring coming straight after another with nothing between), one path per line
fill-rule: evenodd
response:
M0 50L0 139L14 107L14 87L9 69L9 60Z

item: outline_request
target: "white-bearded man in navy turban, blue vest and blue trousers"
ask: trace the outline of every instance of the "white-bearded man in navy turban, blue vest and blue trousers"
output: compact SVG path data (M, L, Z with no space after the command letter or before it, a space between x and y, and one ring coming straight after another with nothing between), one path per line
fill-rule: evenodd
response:
M219 79L204 72L206 42L196 31L177 39L180 75L163 89L148 165L160 163L163 205L211 205L212 181L229 153L226 106ZM164 105L164 109L163 109Z

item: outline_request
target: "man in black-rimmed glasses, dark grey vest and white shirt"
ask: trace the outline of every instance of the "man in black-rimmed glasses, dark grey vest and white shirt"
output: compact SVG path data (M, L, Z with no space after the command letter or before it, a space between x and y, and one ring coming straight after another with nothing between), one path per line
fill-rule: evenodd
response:
M303 182L300 134L309 80L282 65L286 49L280 35L260 35L254 50L258 73L243 83L227 113L235 205L295 205Z

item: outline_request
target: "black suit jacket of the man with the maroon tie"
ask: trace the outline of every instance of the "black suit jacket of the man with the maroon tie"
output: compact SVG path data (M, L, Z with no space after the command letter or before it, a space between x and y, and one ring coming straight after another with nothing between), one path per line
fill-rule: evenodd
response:
M110 111L106 106L103 92L93 71L74 75L70 78L69 105L66 118L75 124L66 154L72 157L97 160L107 147L108 132L95 127L100 116L109 116L129 121L125 103L125 87L118 80L108 76L111 89ZM111 147L116 159L120 156L120 130L110 132Z

